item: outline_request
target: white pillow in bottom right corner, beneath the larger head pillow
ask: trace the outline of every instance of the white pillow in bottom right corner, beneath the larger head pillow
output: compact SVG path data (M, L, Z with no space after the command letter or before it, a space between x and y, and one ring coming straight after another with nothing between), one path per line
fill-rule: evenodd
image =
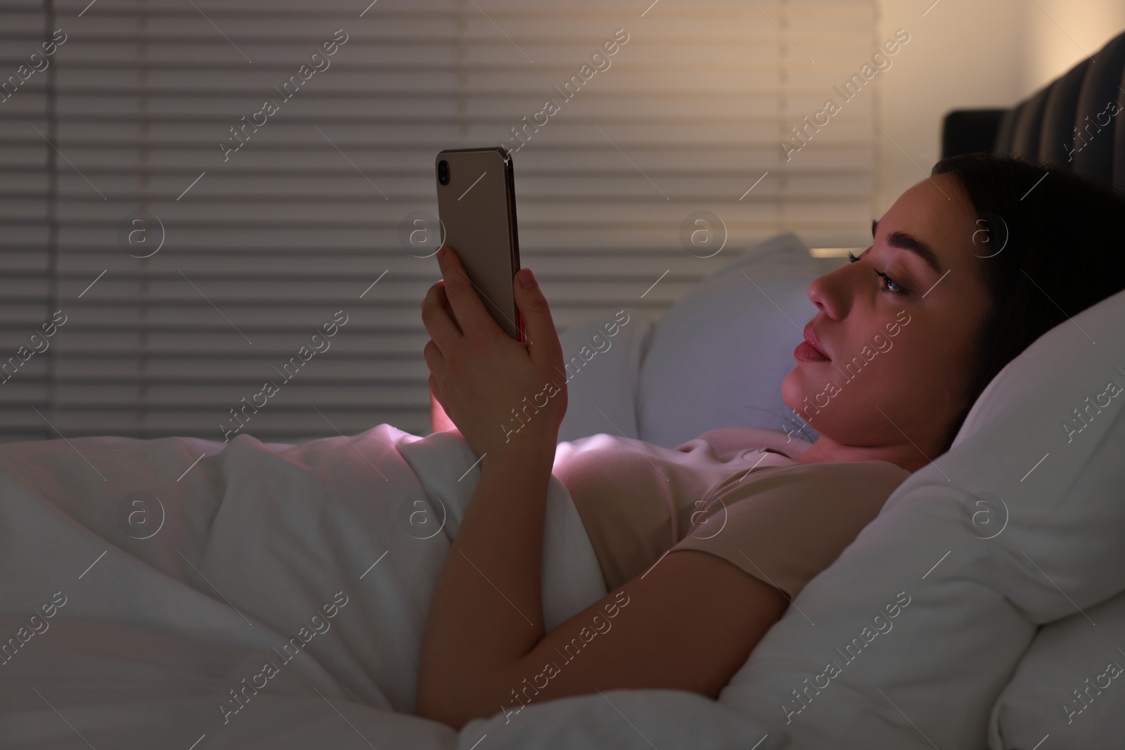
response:
M1040 629L992 706L988 747L1118 750L1125 738L1125 594ZM1074 692L1081 693L1077 696Z

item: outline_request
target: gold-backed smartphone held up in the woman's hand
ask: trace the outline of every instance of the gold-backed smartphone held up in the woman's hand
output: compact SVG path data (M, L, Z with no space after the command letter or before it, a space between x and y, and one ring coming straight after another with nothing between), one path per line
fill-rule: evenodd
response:
M520 270L512 155L502 147L449 148L438 154L434 169L443 244L457 253L493 319L524 341L512 290Z

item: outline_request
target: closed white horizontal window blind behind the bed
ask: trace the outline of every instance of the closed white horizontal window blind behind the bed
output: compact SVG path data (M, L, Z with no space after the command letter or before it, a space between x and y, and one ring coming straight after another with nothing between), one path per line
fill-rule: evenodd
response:
M866 245L875 91L782 142L873 29L846 0L6 3L0 440L428 434L439 273L404 238L442 148L513 150L560 329L658 317L780 232Z

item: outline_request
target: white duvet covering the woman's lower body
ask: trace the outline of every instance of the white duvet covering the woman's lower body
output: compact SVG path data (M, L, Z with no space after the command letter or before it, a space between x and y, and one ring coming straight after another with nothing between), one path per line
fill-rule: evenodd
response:
M497 706L460 733L414 716L475 461L460 437L387 424L300 446L0 445L0 747L782 747L675 690ZM543 591L548 629L605 594L554 478Z

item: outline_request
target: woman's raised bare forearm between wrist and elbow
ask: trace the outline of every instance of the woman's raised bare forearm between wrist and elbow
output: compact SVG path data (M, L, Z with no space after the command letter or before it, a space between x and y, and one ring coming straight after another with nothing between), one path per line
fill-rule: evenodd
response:
M549 435L521 435L482 460L480 482L434 589L417 713L453 726L495 677L543 636L541 567ZM502 696L489 696L500 706ZM498 710L498 708L497 708Z

